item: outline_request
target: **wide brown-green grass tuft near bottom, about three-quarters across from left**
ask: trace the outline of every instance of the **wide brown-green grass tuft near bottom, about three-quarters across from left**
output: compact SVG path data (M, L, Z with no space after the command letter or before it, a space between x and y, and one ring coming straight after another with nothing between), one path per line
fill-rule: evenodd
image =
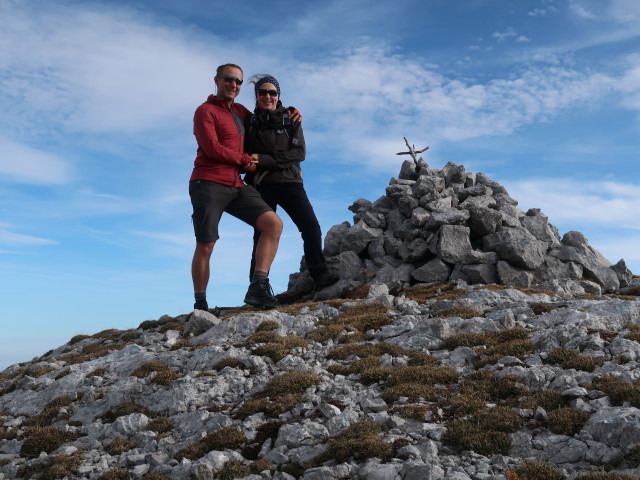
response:
M510 433L520 429L520 417L507 407L483 409L470 418L453 420L447 425L443 441L454 450L471 450L480 455L507 455Z

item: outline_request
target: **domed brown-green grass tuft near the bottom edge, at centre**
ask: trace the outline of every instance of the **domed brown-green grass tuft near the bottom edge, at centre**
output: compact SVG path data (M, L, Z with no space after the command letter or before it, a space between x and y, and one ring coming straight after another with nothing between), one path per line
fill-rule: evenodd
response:
M314 465L327 460L343 463L354 458L364 462L368 458L379 458L387 462L393 455L393 445L382 440L382 427L375 422L365 420L350 425L336 435L327 446L327 450L314 459Z

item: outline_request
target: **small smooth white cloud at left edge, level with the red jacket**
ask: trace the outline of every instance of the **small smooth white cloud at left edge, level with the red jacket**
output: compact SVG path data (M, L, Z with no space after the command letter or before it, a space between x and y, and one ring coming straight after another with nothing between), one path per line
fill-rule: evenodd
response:
M65 184L72 167L58 156L0 137L0 178L36 185Z

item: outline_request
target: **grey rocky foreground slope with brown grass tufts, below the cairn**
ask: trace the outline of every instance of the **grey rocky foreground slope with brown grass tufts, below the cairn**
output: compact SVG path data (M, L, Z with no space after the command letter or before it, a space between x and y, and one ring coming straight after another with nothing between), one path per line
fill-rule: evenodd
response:
M639 278L630 284L640 290ZM640 478L639 297L465 282L425 289L430 296L418 300L411 291L373 284L349 301L224 319L196 311L74 337L1 374L0 479L507 480L530 478L513 472L532 462L556 472L535 478ZM365 327L353 320L358 309ZM477 316L452 316L456 309ZM504 332L524 335L530 348L479 363L489 358L484 347L450 343ZM274 345L285 350L274 355ZM358 348L378 354L362 358ZM589 361L549 361L558 349ZM417 372L411 365L422 358L427 366L427 357L438 364L429 372L449 377L432 384L441 398L388 396L393 372ZM498 396L483 399L480 387L450 396L483 378L501 386ZM632 393L594 388L603 378L609 383L597 385ZM579 417L572 431L554 433L557 407L535 400L551 394ZM508 439L500 453L448 439L456 422L487 411L515 421L510 433L492 434ZM344 443L354 428L375 435ZM582 476L605 466L618 476Z

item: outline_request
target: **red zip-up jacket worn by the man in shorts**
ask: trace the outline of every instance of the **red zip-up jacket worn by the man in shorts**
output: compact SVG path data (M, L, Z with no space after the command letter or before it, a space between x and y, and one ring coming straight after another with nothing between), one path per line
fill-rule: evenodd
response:
M244 119L251 112L239 103L231 110L222 99L209 95L193 116L198 153L189 180L208 180L234 187L244 186L241 167L251 162L244 153Z

